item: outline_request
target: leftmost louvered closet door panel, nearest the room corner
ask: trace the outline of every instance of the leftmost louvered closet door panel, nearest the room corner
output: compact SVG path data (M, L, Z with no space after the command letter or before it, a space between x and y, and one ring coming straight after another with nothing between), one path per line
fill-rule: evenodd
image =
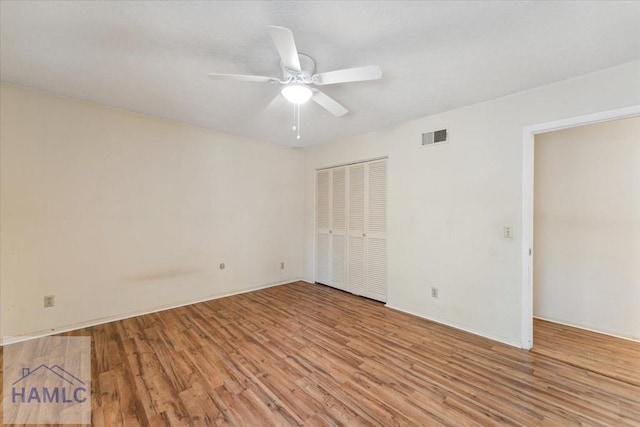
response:
M330 283L331 242L331 171L316 175L316 282Z

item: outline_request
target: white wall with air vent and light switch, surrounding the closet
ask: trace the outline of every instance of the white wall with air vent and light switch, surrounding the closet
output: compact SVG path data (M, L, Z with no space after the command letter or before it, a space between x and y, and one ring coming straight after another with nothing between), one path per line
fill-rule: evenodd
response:
M388 156L388 305L520 346L523 127L640 104L638 76L634 62L306 149L305 278L315 169ZM422 132L442 128L449 144L421 145Z

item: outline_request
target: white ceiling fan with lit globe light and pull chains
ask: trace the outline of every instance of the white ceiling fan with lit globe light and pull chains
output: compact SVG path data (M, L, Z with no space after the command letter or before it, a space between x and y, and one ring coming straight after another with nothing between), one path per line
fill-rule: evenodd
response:
M276 45L276 49L280 54L282 79L267 76L221 73L211 73L209 74L209 78L215 80L236 80L256 83L280 83L283 86L281 93L289 102L299 106L311 99L316 104L320 105L337 117L347 114L349 110L314 86L377 80L382 78L382 71L377 65L347 68L315 74L315 61L308 55L298 53L293 33L290 29L270 26L269 34L271 35L271 38ZM294 130L295 128L296 127L294 126Z

